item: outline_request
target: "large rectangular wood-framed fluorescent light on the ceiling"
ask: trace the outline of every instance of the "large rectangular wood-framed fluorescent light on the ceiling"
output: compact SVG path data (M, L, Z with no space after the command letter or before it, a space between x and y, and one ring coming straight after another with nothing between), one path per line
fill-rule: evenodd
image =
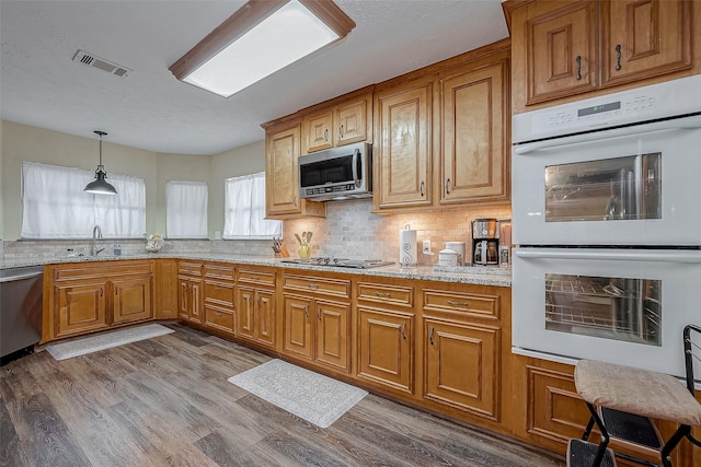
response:
M250 0L169 70L229 97L354 27L332 0Z

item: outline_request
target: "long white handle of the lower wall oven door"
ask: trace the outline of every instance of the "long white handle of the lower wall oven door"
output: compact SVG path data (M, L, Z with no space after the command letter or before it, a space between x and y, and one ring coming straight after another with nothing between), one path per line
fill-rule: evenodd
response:
M596 259L655 262L701 262L700 250L611 250L589 248L516 248L514 255L524 259Z

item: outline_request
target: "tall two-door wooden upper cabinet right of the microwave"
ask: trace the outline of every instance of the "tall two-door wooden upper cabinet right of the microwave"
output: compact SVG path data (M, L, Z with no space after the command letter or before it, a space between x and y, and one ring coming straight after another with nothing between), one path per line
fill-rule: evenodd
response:
M377 212L508 201L508 60L501 42L376 91Z

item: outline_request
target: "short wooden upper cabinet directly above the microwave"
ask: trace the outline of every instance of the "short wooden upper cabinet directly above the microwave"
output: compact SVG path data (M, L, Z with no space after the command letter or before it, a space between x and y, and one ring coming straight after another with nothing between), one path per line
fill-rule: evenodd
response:
M302 153L371 139L371 119L370 92L338 104L323 104L302 117Z

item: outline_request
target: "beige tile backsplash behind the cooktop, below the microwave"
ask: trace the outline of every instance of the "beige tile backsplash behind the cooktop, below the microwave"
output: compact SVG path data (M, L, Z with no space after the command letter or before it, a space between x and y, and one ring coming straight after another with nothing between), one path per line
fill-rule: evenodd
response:
M312 231L312 256L399 261L399 231L410 225L416 230L420 264L438 261L445 242L469 242L471 222L479 218L510 219L509 205L460 210L379 215L371 212L371 200L331 201L325 219L285 221L284 240L292 257L297 257L295 233ZM430 240L433 255L423 255L422 242ZM469 248L469 246L468 246Z

